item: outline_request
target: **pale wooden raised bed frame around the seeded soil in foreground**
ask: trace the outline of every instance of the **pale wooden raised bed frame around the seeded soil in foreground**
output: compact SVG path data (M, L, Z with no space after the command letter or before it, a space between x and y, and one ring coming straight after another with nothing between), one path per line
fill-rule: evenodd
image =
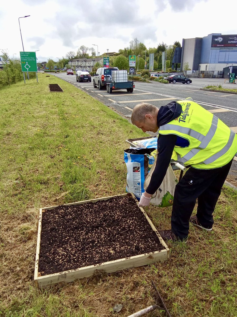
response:
M137 205L138 201L136 197L131 194L133 199L135 199ZM127 194L117 195L119 197L125 197ZM79 201L76 203L71 204L65 204L64 206L70 206L70 205L79 205L79 204L85 204L85 203L95 203L98 200L107 200L115 196L109 196L109 197L102 197L97 199L91 199L91 200L84 200ZM147 216L146 212L143 210L143 208L139 207L140 210L143 212L144 216L146 217L148 223L150 224L151 228L155 231L155 234L158 236L161 244L164 246L163 250L150 252L141 254L138 256L131 256L129 258L123 258L115 261L110 262L104 262L101 264L96 265L90 265L83 268L77 268L73 270L67 270L64 272L59 272L55 274L49 274L40 276L40 273L38 272L38 263L39 263L39 254L40 254L40 235L41 235L41 220L42 220L42 213L48 209L55 209L58 206L52 206L52 207L46 207L46 208L40 208L40 215L39 215L39 225L38 225L38 236L37 236L37 246L36 246L36 257L35 257L35 269L34 269L34 282L38 288L45 288L47 286L51 286L53 284L57 284L60 282L72 282L76 279L82 279L84 277L90 277L94 274L94 271L96 269L103 269L107 273L112 273L120 270L124 270L126 268L134 268L141 265L147 265L149 263L153 263L159 260L166 260L169 258L169 249L164 242L164 240L161 238L157 230L155 229L155 226Z

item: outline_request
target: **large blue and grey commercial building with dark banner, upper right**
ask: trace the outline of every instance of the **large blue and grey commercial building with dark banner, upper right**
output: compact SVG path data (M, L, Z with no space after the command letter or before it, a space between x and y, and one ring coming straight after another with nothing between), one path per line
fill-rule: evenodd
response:
M178 49L178 48L176 48ZM174 56L175 57L175 56ZM204 37L183 39L180 61L181 70L223 71L237 66L237 35L212 33Z

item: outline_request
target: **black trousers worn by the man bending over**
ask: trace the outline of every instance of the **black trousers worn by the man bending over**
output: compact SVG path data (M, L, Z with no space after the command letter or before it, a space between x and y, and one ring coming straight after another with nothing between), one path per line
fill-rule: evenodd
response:
M181 240L187 238L189 219L198 201L197 219L204 228L212 228L212 213L221 194L232 160L220 168L199 170L190 167L175 187L171 229Z

